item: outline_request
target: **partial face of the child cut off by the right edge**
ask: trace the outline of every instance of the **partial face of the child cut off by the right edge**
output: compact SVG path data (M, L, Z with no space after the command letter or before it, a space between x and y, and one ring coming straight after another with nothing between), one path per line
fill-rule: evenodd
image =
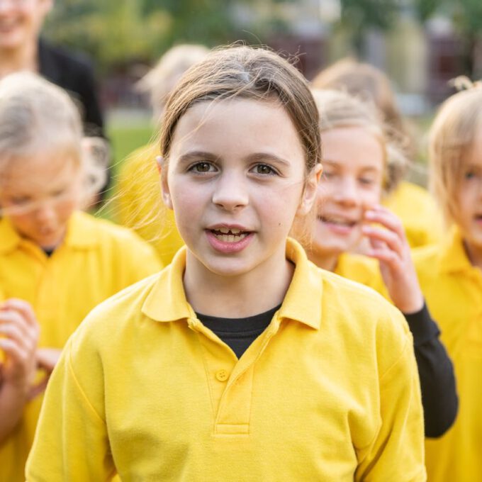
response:
M459 188L457 224L469 255L482 254L482 136L476 139Z

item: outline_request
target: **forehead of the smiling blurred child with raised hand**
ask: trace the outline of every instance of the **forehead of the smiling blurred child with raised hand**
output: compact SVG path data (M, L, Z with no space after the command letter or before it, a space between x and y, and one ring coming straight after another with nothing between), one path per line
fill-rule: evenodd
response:
M359 126L340 127L321 133L326 163L383 169L384 153L379 138Z

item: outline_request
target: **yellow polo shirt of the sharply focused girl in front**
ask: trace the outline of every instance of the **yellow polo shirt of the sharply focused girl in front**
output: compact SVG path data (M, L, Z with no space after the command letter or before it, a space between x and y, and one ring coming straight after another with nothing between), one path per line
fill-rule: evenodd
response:
M284 302L239 360L186 301L184 249L97 307L47 388L28 481L425 481L405 319L286 255Z

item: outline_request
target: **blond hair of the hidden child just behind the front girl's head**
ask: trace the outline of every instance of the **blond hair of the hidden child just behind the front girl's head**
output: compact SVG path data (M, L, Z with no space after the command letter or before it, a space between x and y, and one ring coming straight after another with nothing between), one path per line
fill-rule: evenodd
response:
M208 54L204 45L182 44L167 50L153 67L136 84L136 89L149 94L155 120L164 111L164 104L176 82L189 67L196 64Z

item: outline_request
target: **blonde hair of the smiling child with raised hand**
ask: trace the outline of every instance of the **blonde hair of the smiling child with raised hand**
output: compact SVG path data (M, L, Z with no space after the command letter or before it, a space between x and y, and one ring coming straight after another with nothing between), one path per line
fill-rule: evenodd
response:
M320 132L335 128L360 127L374 135L383 150L383 193L393 190L393 179L388 174L393 164L403 164L405 157L388 138L383 123L371 108L354 96L343 91L312 89L320 113Z

